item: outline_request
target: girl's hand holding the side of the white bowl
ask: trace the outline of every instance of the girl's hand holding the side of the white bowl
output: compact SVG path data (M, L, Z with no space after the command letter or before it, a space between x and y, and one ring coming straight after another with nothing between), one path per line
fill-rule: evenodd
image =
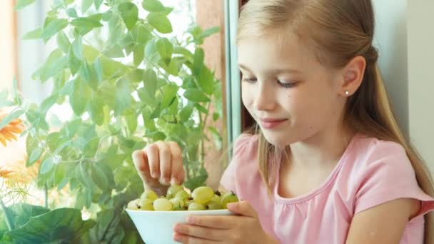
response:
M188 216L177 223L173 240L180 243L278 243L261 227L258 215L246 201L229 203L230 216Z

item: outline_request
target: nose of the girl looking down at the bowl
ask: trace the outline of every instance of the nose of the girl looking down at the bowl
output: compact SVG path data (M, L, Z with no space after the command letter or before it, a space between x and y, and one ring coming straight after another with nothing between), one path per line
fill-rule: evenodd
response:
M253 107L257 111L271 111L276 106L276 94L270 84L258 81L254 93Z

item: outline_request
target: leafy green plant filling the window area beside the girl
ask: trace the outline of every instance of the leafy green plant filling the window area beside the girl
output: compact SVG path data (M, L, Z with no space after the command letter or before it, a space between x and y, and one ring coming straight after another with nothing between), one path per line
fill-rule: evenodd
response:
M16 9L32 2L19 0ZM0 121L0 128L24 118L26 165L41 160L37 185L47 191L69 189L75 205L41 208L43 214L26 216L19 228L0 233L0 240L136 243L140 237L123 209L143 192L131 154L147 143L178 142L184 152L185 185L193 189L206 181L205 131L221 146L221 136L209 122L221 118L222 109L221 83L204 64L201 44L218 29L203 31L192 25L179 40L170 36L167 16L172 8L158 0L139 2L54 0L44 26L24 36L56 39L58 48L34 73L35 79L52 82L53 89L39 106L15 94L16 108ZM141 18L141 12L146 17ZM216 113L208 113L211 103ZM70 106L74 118L49 118L56 104ZM94 212L93 220L78 218L84 208ZM68 210L71 225L41 225Z

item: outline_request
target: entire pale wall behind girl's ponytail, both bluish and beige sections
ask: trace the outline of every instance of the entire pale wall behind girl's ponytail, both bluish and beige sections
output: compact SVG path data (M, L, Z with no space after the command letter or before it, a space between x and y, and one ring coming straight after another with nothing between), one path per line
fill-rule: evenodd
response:
M434 1L373 4L374 46L395 115L434 173Z

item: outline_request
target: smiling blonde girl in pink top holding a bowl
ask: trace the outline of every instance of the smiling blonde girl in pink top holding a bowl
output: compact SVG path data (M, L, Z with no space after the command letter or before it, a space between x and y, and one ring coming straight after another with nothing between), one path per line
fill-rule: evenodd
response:
M432 179L390 110L373 34L370 0L248 1L238 59L258 127L221 178L243 201L233 216L191 216L174 240L433 243ZM146 188L183 181L176 143L133 158Z

